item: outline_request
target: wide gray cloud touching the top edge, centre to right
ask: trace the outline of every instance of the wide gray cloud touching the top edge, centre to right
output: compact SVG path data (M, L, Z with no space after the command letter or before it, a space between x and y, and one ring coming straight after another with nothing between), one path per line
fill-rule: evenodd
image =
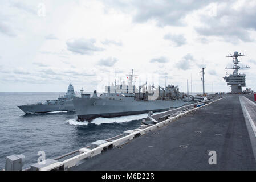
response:
M183 26L183 19L194 10L209 5L213 0L205 1L103 1L105 6L111 9L117 7L127 13L133 12L133 21L144 23L148 20L156 20L157 26Z

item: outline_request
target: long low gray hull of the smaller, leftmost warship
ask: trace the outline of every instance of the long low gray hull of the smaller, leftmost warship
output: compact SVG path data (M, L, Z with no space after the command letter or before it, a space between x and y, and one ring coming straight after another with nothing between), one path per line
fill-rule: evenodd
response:
M68 104L29 104L18 106L24 113L49 113L53 111L71 111L75 110L72 101Z

